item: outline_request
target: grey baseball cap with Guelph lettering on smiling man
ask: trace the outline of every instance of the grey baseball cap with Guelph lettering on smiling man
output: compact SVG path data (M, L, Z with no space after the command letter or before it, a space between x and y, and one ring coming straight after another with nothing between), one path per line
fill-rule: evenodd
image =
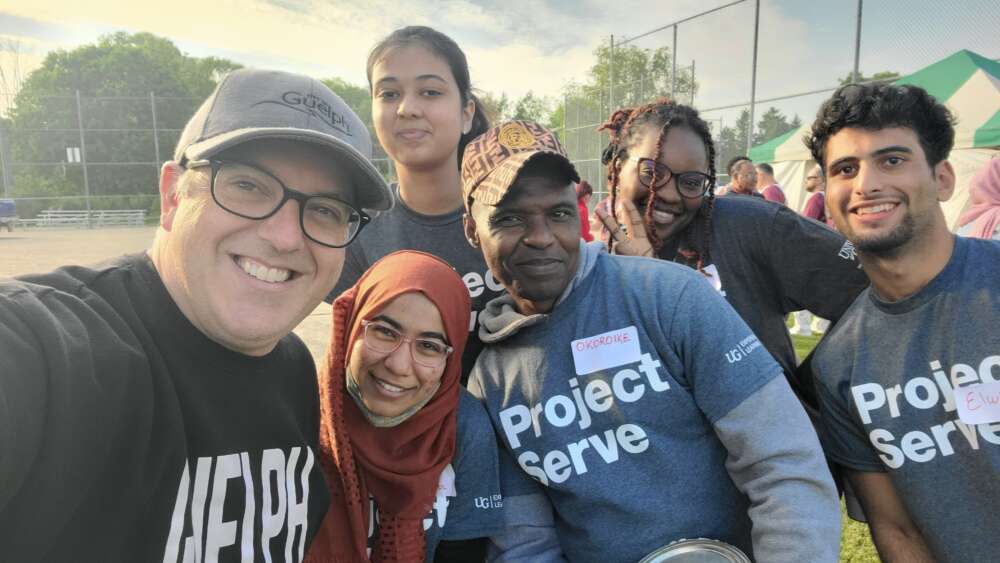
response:
M204 160L255 139L289 139L322 145L349 169L357 204L384 211L392 192L372 164L368 129L351 108L320 81L276 70L230 72L177 141L174 160Z

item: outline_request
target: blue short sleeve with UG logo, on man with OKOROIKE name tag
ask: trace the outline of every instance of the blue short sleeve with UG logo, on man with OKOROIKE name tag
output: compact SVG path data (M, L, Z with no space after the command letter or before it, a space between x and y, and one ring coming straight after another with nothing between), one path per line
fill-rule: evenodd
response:
M676 297L661 300L661 319L669 319L668 342L679 363L669 368L714 423L782 370L732 306L698 279L701 274L682 273L689 281Z

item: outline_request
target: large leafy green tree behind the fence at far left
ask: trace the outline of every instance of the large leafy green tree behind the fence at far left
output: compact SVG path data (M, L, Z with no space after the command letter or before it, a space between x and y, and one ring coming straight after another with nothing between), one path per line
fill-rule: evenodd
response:
M21 164L12 167L12 193L64 193L72 191L68 186L83 193L78 165L24 166L64 162L66 148L80 146L79 92L88 163L146 163L89 165L91 193L150 194L155 162L169 157L201 101L222 75L238 67L225 59L189 57L150 33L113 33L94 44L50 52L23 81L8 114L5 141L11 161ZM155 140L151 93L159 132Z

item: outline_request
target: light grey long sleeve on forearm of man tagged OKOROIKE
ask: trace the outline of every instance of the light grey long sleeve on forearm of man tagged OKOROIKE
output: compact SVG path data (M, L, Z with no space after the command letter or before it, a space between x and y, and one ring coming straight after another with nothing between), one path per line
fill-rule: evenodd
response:
M836 487L805 411L784 378L772 379L715 423L726 469L750 499L758 561L837 561Z

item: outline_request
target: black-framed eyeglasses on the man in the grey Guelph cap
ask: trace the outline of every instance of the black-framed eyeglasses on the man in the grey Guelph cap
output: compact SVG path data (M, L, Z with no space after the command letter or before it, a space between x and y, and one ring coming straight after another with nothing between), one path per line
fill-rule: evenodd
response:
M299 226L309 240L343 248L371 217L328 194L293 190L268 172L232 160L195 160L187 168L212 167L212 199L219 207L245 219L267 219L293 199L299 203Z

